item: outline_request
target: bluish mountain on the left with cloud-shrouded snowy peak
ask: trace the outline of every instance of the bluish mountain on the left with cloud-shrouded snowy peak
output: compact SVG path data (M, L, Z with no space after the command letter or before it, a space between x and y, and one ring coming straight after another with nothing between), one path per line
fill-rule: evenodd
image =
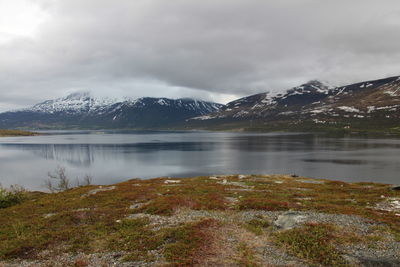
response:
M0 128L157 128L215 112L221 104L189 98L118 101L74 93L0 114Z

